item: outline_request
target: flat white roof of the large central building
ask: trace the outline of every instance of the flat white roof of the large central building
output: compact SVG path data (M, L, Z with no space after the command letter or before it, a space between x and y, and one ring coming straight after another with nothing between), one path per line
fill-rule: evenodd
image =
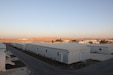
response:
M30 44L50 47L50 48L64 49L68 51L88 49L86 44L79 44L79 43L30 43Z

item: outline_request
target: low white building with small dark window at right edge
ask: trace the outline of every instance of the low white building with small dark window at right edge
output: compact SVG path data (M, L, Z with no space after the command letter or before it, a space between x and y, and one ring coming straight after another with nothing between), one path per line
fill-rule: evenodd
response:
M91 53L113 54L113 44L92 44L88 47Z

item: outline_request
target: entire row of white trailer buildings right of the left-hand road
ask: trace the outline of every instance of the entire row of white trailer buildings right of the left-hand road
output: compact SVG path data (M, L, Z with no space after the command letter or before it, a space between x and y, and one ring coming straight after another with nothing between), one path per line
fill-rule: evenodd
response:
M11 43L11 45L65 64L90 59L90 53L113 53L113 44Z

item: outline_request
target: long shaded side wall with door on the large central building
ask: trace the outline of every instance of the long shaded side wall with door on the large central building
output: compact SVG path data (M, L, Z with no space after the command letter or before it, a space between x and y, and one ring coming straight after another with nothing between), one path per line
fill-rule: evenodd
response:
M59 62L68 62L68 51L56 48L26 44L26 50Z

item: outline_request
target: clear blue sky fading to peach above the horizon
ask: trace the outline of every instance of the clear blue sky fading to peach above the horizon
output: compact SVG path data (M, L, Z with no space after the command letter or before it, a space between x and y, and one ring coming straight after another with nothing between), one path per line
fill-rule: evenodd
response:
M113 0L0 0L0 38L112 38Z

